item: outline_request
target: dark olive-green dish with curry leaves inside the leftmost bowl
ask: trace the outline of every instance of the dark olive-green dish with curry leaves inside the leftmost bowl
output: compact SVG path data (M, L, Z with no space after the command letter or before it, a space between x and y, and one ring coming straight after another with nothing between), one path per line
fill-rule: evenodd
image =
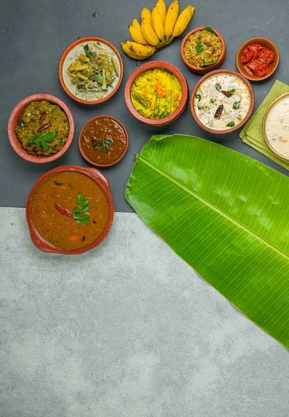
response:
M47 157L63 149L69 136L69 120L58 104L32 101L22 110L14 131L28 154Z

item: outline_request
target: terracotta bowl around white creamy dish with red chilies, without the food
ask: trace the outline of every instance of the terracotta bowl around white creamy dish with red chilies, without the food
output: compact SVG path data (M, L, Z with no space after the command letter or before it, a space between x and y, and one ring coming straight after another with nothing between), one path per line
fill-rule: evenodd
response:
M197 89L199 88L199 85L201 83L203 83L209 76L212 76L213 74L220 74L220 73L226 73L226 74L229 73L229 74L233 74L233 75L238 76L240 79L242 79L245 82L245 84L247 85L247 87L249 88L249 91L251 93L251 106L249 108L249 112L248 112L247 116L245 117L245 119L242 120L242 122L240 122L239 124L237 124L237 126L233 126L231 129L226 129L226 130L223 130L223 131L210 129L207 126L205 126L204 124L202 124L199 121L199 119L198 119L198 117L195 113L195 107L194 107L194 98L195 98L195 94L197 92ZM254 95L253 88L251 87L251 84L249 83L249 81L247 79L245 79L245 76L242 76L242 74L239 74L238 72L231 71L231 70L216 70L216 71L210 72L210 74L206 74L206 75L202 76L201 79L195 85L194 90L192 90L192 95L190 97L190 111L192 112L192 117L194 117L195 122L197 124L199 124L201 129L204 129L205 131L210 132L210 133L215 133L217 135L224 135L225 133L231 133L231 132L233 132L237 129L240 129L240 127L242 127L247 122L247 120L249 120L249 117L251 116L252 111L254 109L254 104L255 104L255 95Z

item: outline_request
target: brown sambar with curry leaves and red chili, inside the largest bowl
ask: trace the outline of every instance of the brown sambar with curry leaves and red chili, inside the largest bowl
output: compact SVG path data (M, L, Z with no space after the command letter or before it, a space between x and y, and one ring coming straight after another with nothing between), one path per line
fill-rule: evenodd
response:
M60 249L77 250L99 238L108 222L109 207L104 191L92 179L61 172L36 188L30 212L42 238Z

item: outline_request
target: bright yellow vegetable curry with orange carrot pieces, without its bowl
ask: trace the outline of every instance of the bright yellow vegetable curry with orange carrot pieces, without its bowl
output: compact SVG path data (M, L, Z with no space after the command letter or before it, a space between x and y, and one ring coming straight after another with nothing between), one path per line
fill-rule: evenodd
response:
M149 119L163 119L172 114L179 106L181 96L179 79L162 68L142 72L131 87L133 107Z

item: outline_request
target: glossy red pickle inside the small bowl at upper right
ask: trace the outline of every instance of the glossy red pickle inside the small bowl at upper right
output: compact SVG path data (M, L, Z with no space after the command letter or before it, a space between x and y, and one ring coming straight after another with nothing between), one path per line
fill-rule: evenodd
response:
M241 62L256 76L264 76L270 70L274 60L274 51L263 48L261 44L249 45L242 54Z

